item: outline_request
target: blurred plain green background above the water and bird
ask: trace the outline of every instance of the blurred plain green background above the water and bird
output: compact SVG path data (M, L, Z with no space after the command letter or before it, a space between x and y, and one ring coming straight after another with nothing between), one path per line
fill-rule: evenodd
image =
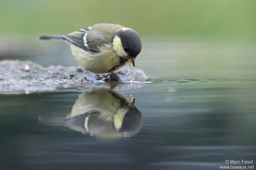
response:
M140 35L251 35L255 0L1 0L0 35L67 34L116 23Z

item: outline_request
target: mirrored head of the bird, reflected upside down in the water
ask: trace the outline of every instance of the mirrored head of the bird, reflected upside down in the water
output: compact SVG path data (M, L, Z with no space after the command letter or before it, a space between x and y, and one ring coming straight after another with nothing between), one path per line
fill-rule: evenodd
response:
M136 135L142 126L142 114L135 106L135 98L130 98L128 104L117 110L114 116L114 127L125 134L125 137Z

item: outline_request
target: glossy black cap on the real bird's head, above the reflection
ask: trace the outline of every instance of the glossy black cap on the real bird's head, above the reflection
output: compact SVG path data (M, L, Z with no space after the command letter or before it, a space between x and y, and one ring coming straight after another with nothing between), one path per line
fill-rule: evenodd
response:
M141 51L140 35L133 29L120 29L116 33L122 42L124 51L129 57L135 58Z

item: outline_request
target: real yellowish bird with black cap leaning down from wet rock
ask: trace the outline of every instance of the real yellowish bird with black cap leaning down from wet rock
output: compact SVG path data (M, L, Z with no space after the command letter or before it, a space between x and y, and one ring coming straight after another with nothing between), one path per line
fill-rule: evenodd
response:
M118 24L95 24L68 35L40 36L41 40L66 42L80 66L90 74L94 82L99 82L93 73L110 73L115 81L121 81L114 71L129 63L134 68L135 59L140 54L140 35L131 28ZM127 63L128 62L128 63Z

